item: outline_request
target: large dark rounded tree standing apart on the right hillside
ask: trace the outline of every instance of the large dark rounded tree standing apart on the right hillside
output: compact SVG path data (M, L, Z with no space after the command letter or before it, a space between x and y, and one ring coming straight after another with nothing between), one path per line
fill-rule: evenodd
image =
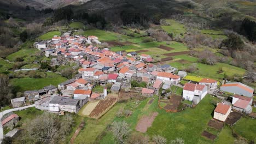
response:
M242 50L245 43L235 33L230 33L228 39L222 41L222 45L226 46L229 50Z

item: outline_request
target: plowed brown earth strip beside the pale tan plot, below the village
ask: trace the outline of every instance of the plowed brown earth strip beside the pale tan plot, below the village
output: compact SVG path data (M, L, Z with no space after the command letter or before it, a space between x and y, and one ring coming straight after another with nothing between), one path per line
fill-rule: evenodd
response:
M94 110L91 111L90 117L98 117L102 112L108 109L109 106L113 105L117 98L107 98L101 100L95 107Z

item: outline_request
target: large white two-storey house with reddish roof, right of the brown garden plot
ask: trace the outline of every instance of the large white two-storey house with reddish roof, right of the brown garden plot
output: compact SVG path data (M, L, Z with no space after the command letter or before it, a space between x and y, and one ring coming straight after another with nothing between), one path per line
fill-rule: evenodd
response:
M207 94L207 87L194 83L186 83L183 87L182 98L193 101L193 104L197 105Z

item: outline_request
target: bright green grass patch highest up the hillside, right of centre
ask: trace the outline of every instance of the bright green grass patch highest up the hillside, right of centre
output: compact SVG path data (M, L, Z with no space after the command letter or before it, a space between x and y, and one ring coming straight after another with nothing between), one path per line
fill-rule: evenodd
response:
M170 23L170 26L161 26L164 31L167 33L173 33L173 36L180 35L181 33L184 34L186 32L186 29L184 28L184 25L172 20L172 19L166 19L168 23Z

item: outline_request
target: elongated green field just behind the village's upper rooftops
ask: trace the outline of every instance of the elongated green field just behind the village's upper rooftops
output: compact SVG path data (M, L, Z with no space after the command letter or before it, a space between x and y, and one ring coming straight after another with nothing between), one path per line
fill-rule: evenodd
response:
M84 32L84 35L89 36L89 35L95 35L98 37L100 41L108 41L108 40L117 40L117 39L128 39L127 35L119 34L119 33L114 33L114 32L109 32L109 31L103 31L100 29L91 29L88 31Z

